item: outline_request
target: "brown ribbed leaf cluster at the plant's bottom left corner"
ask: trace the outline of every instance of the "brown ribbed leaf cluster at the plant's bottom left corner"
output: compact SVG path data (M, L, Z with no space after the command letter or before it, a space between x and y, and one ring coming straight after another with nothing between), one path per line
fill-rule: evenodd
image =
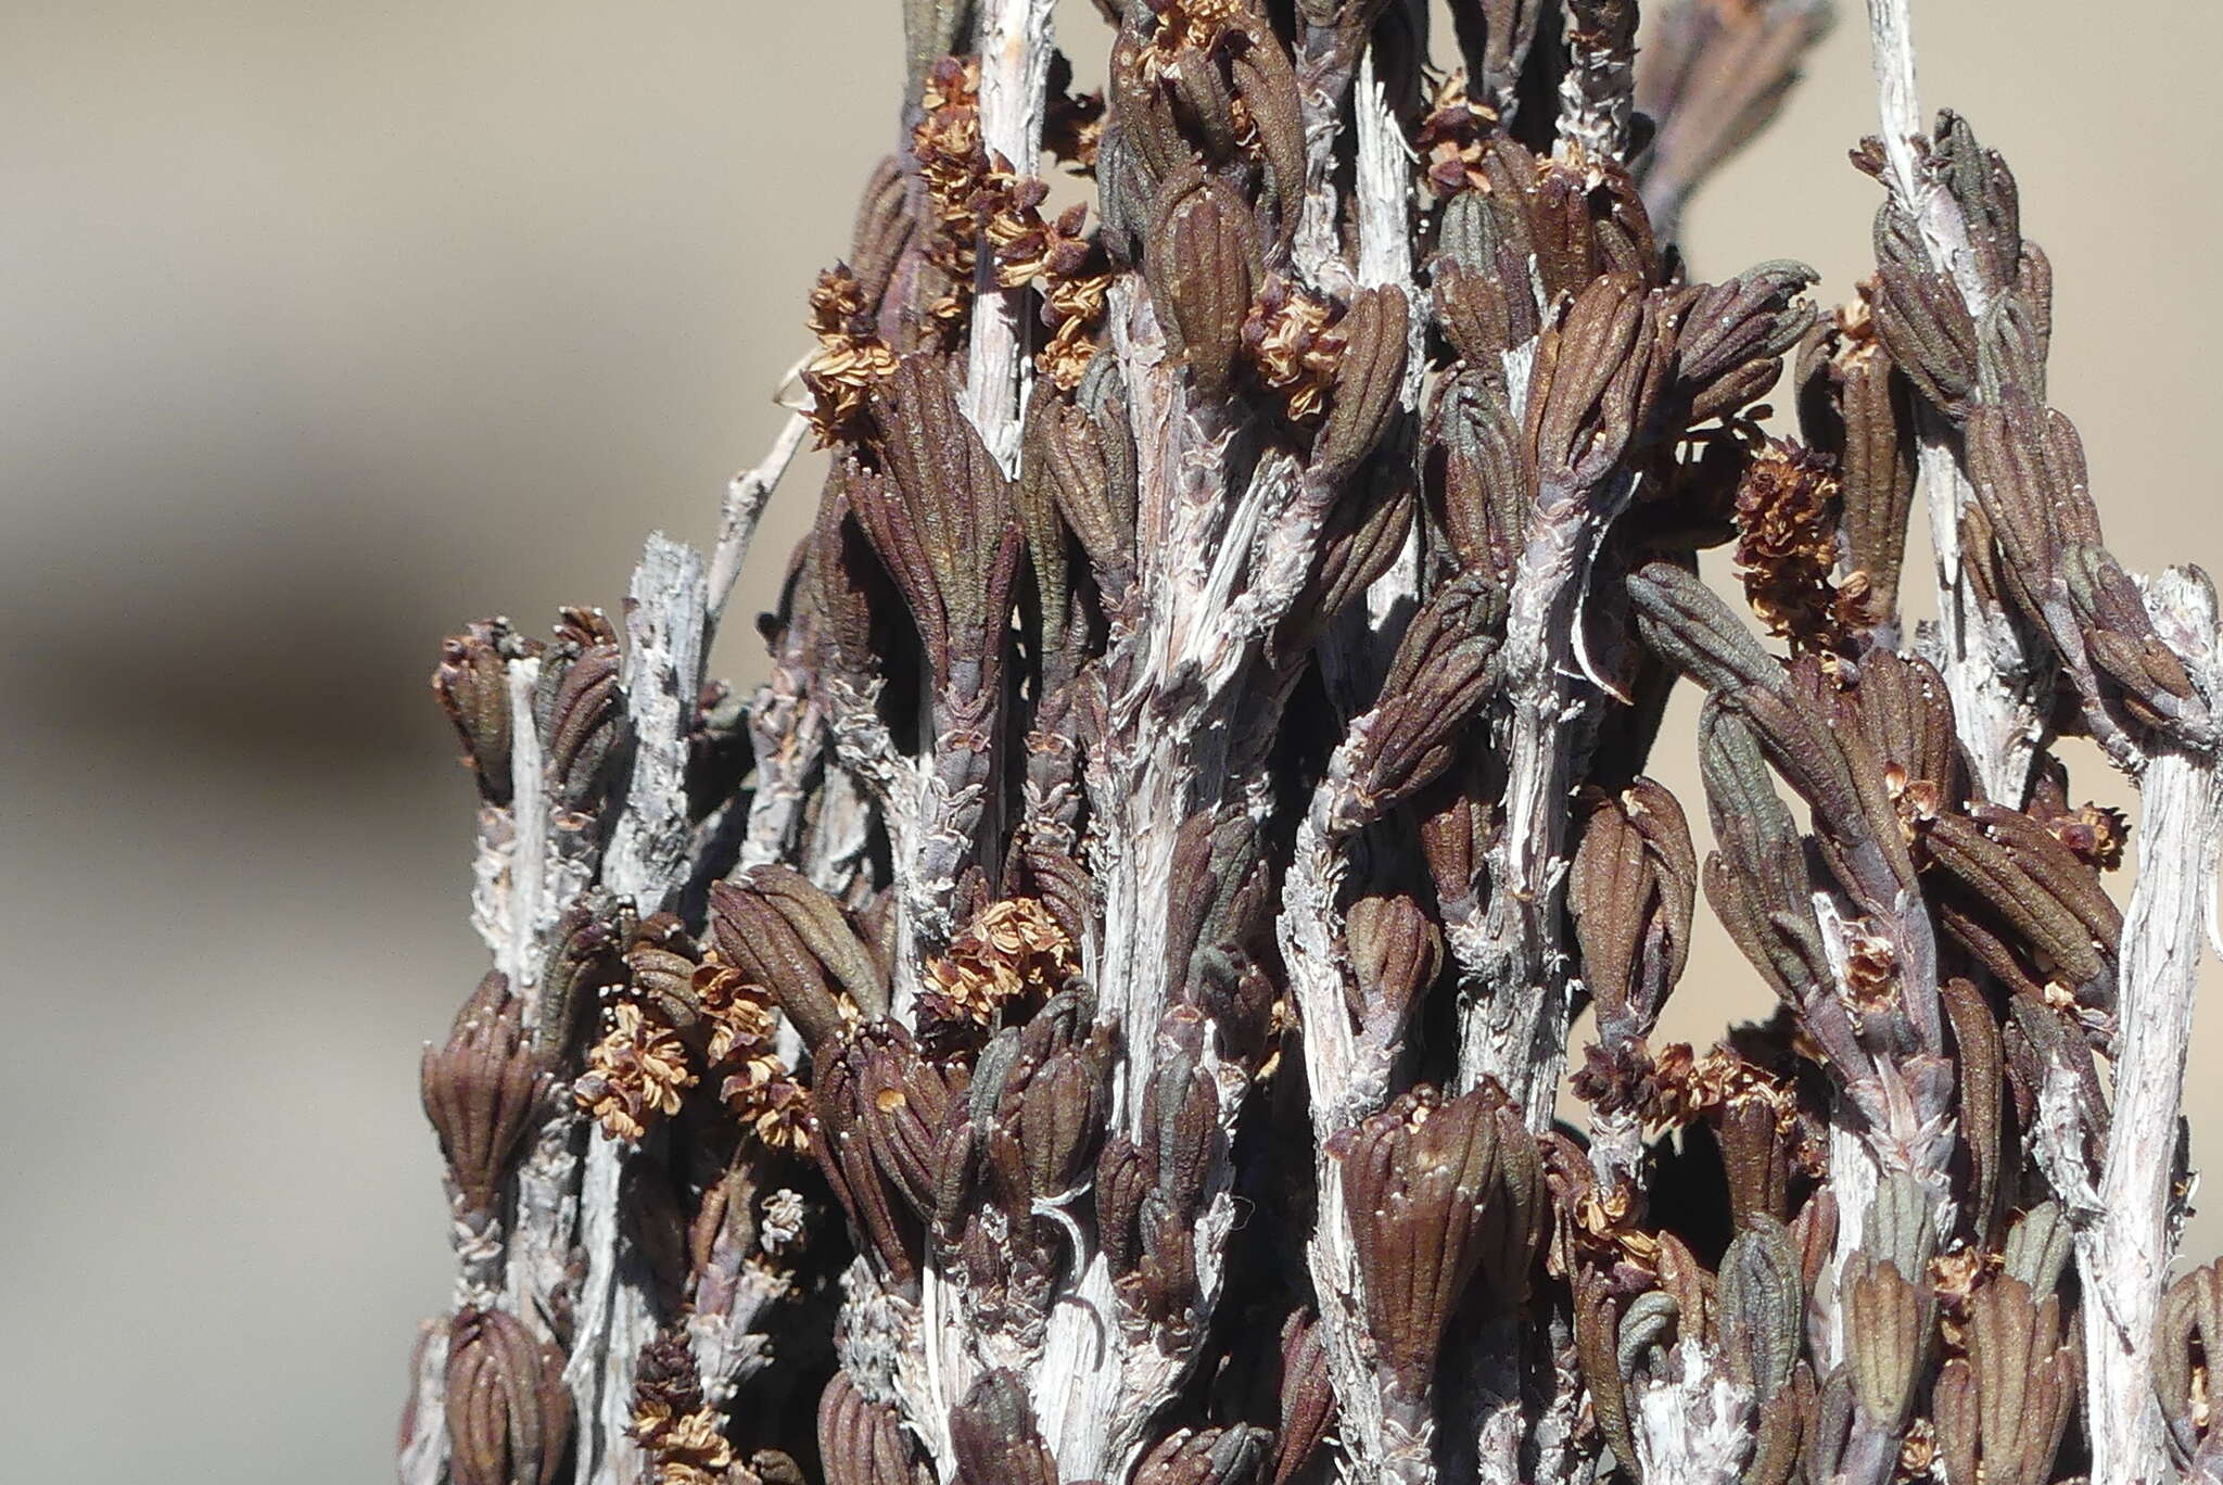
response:
M551 1485L571 1441L562 1356L502 1309L458 1309L447 1336L456 1485Z

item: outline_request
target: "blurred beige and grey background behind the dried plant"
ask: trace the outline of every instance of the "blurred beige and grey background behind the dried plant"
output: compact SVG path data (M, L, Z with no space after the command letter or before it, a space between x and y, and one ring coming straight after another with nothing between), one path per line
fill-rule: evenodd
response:
M2054 258L2114 547L2223 565L2223 13L1918 11L1925 98ZM425 671L478 614L614 605L651 527L709 538L898 56L887 0L0 4L13 1478L389 1478L449 1283L416 1056L480 971ZM1696 271L1787 253L1843 296L1870 127L1841 24L1694 207ZM1669 1031L1758 1009L1716 954ZM2223 1132L2205 1065L2194 1100Z

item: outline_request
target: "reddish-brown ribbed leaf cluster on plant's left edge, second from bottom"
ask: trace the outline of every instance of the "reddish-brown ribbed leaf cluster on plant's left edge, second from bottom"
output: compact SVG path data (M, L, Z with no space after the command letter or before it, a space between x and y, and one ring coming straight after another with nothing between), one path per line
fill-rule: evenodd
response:
M525 1005L500 971L487 971L456 1014L442 1047L425 1047L425 1118L440 1136L465 1212L494 1216L518 1143L549 1078L525 1043Z

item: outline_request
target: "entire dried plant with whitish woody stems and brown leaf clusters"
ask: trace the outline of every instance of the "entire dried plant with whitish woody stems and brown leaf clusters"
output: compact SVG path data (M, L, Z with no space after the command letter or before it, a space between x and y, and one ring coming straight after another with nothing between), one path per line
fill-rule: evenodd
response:
M2223 1272L2170 1283L2216 602L2107 554L1905 0L1834 313L1672 242L1823 0L1643 58L1634 0L1098 9L1085 96L1049 0L907 0L709 560L442 651L494 967L425 1054L402 1478L2223 1478ZM2127 909L2070 736L2143 791ZM1701 896L1778 998L1703 1052Z

